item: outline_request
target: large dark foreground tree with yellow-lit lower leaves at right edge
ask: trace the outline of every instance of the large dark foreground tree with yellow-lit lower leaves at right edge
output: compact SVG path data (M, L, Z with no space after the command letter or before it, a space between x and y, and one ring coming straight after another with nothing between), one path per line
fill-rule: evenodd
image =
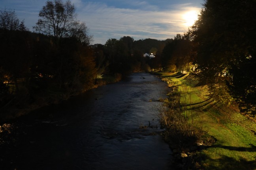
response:
M214 87L226 89L237 102L247 105L243 107L245 112L254 116L255 6L255 0L206 0L198 21L188 31L195 46L194 63L198 66L196 73L201 83L213 87L209 89L212 94Z

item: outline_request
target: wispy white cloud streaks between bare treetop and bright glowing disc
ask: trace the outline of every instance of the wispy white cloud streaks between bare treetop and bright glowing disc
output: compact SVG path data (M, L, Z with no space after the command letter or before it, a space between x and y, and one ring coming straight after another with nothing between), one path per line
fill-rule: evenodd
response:
M87 23L90 33L94 34L95 43L101 39L99 43L104 44L107 39L119 39L127 35L134 39L174 37L177 33L187 30L183 14L189 10L200 10L199 7L193 7L191 4L190 6L181 4L170 11L149 10L156 7L147 6L146 2L137 2L137 5L139 4L143 4L144 7L115 8L107 4L87 2L79 11L79 19Z

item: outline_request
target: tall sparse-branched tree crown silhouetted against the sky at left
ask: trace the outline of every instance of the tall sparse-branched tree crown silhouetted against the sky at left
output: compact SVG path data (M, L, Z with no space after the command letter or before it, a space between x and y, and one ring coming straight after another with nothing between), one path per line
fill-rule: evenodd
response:
M62 0L48 0L39 12L39 17L33 28L53 36L55 44L63 37L75 37L85 44L89 44L92 39L87 35L88 28L85 23L76 20L75 7L70 0L65 3Z

